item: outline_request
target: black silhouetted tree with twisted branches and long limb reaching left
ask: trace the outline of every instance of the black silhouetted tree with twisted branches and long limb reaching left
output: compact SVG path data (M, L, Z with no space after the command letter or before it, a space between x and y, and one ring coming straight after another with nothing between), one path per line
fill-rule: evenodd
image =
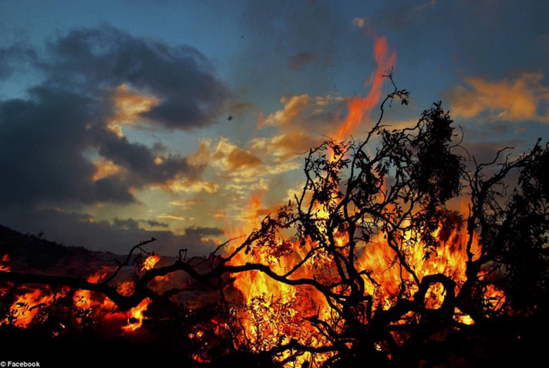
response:
M219 289L225 311L224 290L244 272L323 296L330 318L302 316L324 337L322 343L281 339L256 351L253 364L289 352L283 362L326 354L322 364L331 367L492 365L513 358L512 349L525 351L517 343L521 336L535 350L547 342L540 328L549 325L548 146L538 141L515 159L503 156L504 149L479 164L455 142L453 122L440 102L415 125L389 130L382 125L387 103L407 104L409 98L394 87L363 141L327 140L312 148L301 193L224 256L217 255L228 242L222 244L210 255L207 272L199 273L196 261L180 252L172 265L142 273L132 295L121 295L112 282L144 242L100 283L1 271L0 281L91 290L121 310L145 298L165 302L166 295L149 284L178 271ZM452 199L466 203L467 213L450 206ZM463 255L461 264L434 267L448 261L440 258L448 249ZM387 269L376 269L372 252L383 254ZM247 261L235 264L243 253ZM284 273L265 262L292 257L297 260ZM391 285L386 271L398 275ZM502 347L509 350L496 354ZM227 349L238 353L234 346Z

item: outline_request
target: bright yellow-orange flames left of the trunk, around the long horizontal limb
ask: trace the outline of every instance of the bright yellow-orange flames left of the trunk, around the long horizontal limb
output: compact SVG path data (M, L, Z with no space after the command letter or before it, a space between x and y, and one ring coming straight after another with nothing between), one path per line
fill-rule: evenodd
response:
M258 228L260 209L261 194L254 194L242 211L241 218L246 222L239 228L230 229L228 235L236 237ZM292 244L287 239L285 244L288 249L299 249L298 244ZM260 251L253 254L240 252L231 264L269 264L275 272L284 274L299 262L299 258L304 256L311 246L312 243L307 244L305 249L288 257L273 257ZM295 277L304 277L306 273L300 270ZM237 346L260 352L288 343L291 339L310 346L322 346L327 343L326 338L316 333L314 327L306 321L307 318L317 318L319 313L330 314L326 301L318 291L307 287L295 288L256 271L240 273L235 278L234 286L244 298L243 308L235 311L244 328L242 334L237 336ZM279 359L283 360L287 356L288 353L285 353ZM306 354L299 357L298 362L303 363L310 358L309 354Z

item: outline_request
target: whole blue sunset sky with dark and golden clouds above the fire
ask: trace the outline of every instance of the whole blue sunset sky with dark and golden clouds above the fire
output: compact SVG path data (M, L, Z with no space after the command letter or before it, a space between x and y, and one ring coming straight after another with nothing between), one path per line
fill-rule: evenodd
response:
M491 161L549 138L549 3L3 0L0 224L211 252L301 187L303 153L442 101ZM355 106L358 118L351 115ZM352 129L342 129L349 126Z

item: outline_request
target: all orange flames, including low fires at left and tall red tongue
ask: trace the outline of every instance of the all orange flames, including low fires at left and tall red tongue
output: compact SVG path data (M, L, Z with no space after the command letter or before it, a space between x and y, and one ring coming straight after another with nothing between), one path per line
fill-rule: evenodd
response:
M368 117L372 108L379 103L384 79L381 77L386 70L390 69L396 62L396 52L391 51L385 37L376 37L374 46L374 56L377 63L377 69L370 76L367 85L371 89L365 98L351 98L348 101L349 113L339 129L336 132L336 141L346 139L351 135L358 125ZM146 107L148 107L147 105ZM141 110L139 110L141 111ZM138 111L138 112L139 112ZM135 115L135 114L134 114ZM131 115L130 117L134 117ZM263 121L263 114L258 117L258 125ZM326 159L333 163L342 158L343 154L332 154ZM338 183L339 184L339 183ZM383 181L382 193L388 192L388 184ZM403 231L399 234L398 249L387 239L387 233L382 230L375 233L367 240L364 238L357 241L355 249L348 250L347 245L354 242L350 239L345 226L334 232L326 231L327 223L331 221L333 208L340 204L338 196L338 187L334 186L332 192L327 193L327 200L324 205L311 206L314 226L319 229L319 235L316 240L310 237L306 239L296 239L286 229L280 231L269 239L262 239L265 244L257 244L253 247L243 249L238 253L233 253L242 245L234 240L242 239L242 234L252 234L254 230L261 228L260 214L264 213L262 208L262 193L253 194L249 203L241 211L239 220L243 223L239 227L231 227L227 223L228 230L226 235L233 240L229 243L227 254L234 254L228 262L230 266L242 266L247 264L260 264L269 267L269 270L276 275L286 278L286 280L314 280L321 286L326 286L330 293L349 297L353 292L351 287L345 282L341 282L341 275L345 272L338 270L342 268L338 264L339 260L333 253L330 253L325 246L322 246L324 238L333 238L333 242L326 241L326 244L335 244L334 247L341 252L341 257L347 259L352 256L352 266L356 269L356 285L360 284L361 298L370 300L370 309L374 311L388 311L397 305L400 300L414 300L416 296L422 295L421 281L426 277L444 276L455 284L455 290L447 289L443 282L435 282L423 290L422 308L427 310L439 310L446 301L450 293L457 295L466 281L467 262L478 259L481 255L480 240L477 234L469 233L464 219L468 215L468 206L462 201L460 212L447 211L440 214L438 227L429 231L436 246L431 246L429 252L426 252L427 245L421 234L427 232L427 229L419 228ZM290 205L288 205L290 207ZM398 212L396 205L389 207L389 212ZM359 209L352 209L351 211ZM346 214L347 217L354 213ZM410 213L409 217L415 214ZM390 216L390 215L389 215ZM217 218L228 219L228 216L222 212L214 215ZM227 220L228 221L228 220ZM357 222L360 226L361 224ZM414 228L409 223L404 222L402 228ZM366 227L366 226L365 226ZM243 240L244 241L244 240ZM155 269L160 256L151 254L146 257L141 264L136 265L134 276L136 279L143 273ZM0 263L0 271L9 271L7 265L9 256L5 255ZM351 269L349 267L348 269ZM348 270L347 269L347 270ZM87 280L90 283L100 283L104 281L112 270L103 268L91 274ZM350 272L347 271L347 275ZM478 276L478 275L477 275ZM486 275L480 275L479 281L486 281ZM351 279L349 276L348 279ZM160 282L169 281L169 276L155 278L154 284L151 281L151 289L160 290ZM290 344L292 342L311 348L333 347L333 336L344 336L346 328L345 321L338 314L337 309L343 302L341 298L329 299L328 293L321 293L314 286L302 284L292 286L275 280L264 272L257 270L240 272L231 275L231 281L234 288L239 292L238 295L229 297L230 313L238 326L229 326L229 323L218 322L211 319L215 325L216 333L221 330L231 330L234 338L234 346L237 349L245 349L253 353L267 352L271 349ZM353 286L356 286L353 285ZM114 285L113 285L114 286ZM147 287L149 287L147 285ZM135 292L136 281L123 281L116 285L116 290L122 296L129 297ZM20 296L10 308L13 321L9 322L15 326L27 328L36 317L43 306L49 306L54 303L56 297L67 295L64 290L61 293L54 294L47 288L34 289ZM493 284L486 284L481 291L481 308L486 316L501 310L505 304L505 293ZM160 293L159 293L160 294ZM362 299L361 299L362 300ZM119 326L119 332L122 334L132 334L139 331L147 318L144 313L151 304L151 299L143 299L137 306L129 311L120 311L117 306L106 297L98 297L95 293L87 290L76 290L73 294L74 306L80 312L87 312L96 319L124 320L125 325ZM363 307L367 309L366 302L358 304L358 309ZM463 306L460 308L466 309ZM355 312L355 311L353 311ZM357 317L361 326L369 326L370 312L356 311L357 315L362 312L362 317ZM459 308L453 309L452 318L456 324L475 324L477 321L472 315L467 314ZM370 313L371 314L371 313ZM398 317L396 321L391 322L391 326L404 325L410 321L421 318L416 310L408 311L406 314ZM476 318L476 317L475 317ZM82 317L76 317L78 322ZM8 323L7 320L1 324ZM208 330L203 326L193 326L192 332L187 336L190 340L204 342L208 344L206 337ZM330 332L326 332L330 331ZM393 333L393 332L391 332ZM395 344L403 344L404 336L398 333L392 334ZM204 340L204 341L203 341ZM346 339L343 344L351 349L353 344L351 338ZM374 349L384 351L386 347L382 343L376 342ZM276 359L279 362L285 362L286 366L302 366L305 363L311 366L318 366L334 356L334 352L307 352L299 356L293 354L289 349L279 353ZM208 362L206 354L193 354L192 358L197 362ZM291 358L291 359L290 359ZM288 361L286 361L288 360Z

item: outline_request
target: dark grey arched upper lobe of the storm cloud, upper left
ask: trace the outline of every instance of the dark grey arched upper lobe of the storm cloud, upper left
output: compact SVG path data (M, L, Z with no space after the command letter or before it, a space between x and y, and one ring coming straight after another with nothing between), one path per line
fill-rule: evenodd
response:
M170 47L112 27L70 32L49 45L41 64L50 85L83 91L130 84L160 99L144 114L170 129L210 125L228 91L208 60L190 46Z

